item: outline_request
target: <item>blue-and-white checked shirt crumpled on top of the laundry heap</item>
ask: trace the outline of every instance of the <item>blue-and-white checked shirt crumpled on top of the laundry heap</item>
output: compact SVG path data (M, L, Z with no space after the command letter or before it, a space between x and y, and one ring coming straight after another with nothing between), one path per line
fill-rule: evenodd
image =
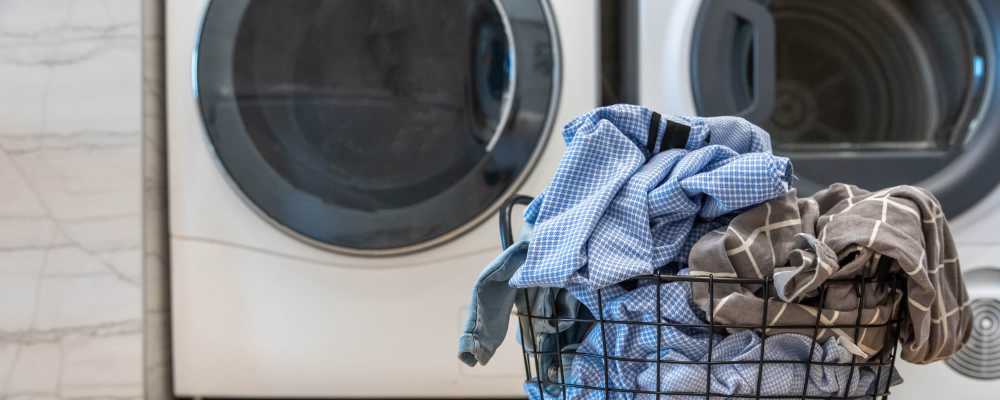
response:
M592 306L590 290L683 262L727 214L787 191L791 163L771 154L761 128L736 117L654 116L615 105L566 125L555 176L525 211L535 237L511 285L569 288ZM660 149L676 141L669 124L690 127L683 149Z

